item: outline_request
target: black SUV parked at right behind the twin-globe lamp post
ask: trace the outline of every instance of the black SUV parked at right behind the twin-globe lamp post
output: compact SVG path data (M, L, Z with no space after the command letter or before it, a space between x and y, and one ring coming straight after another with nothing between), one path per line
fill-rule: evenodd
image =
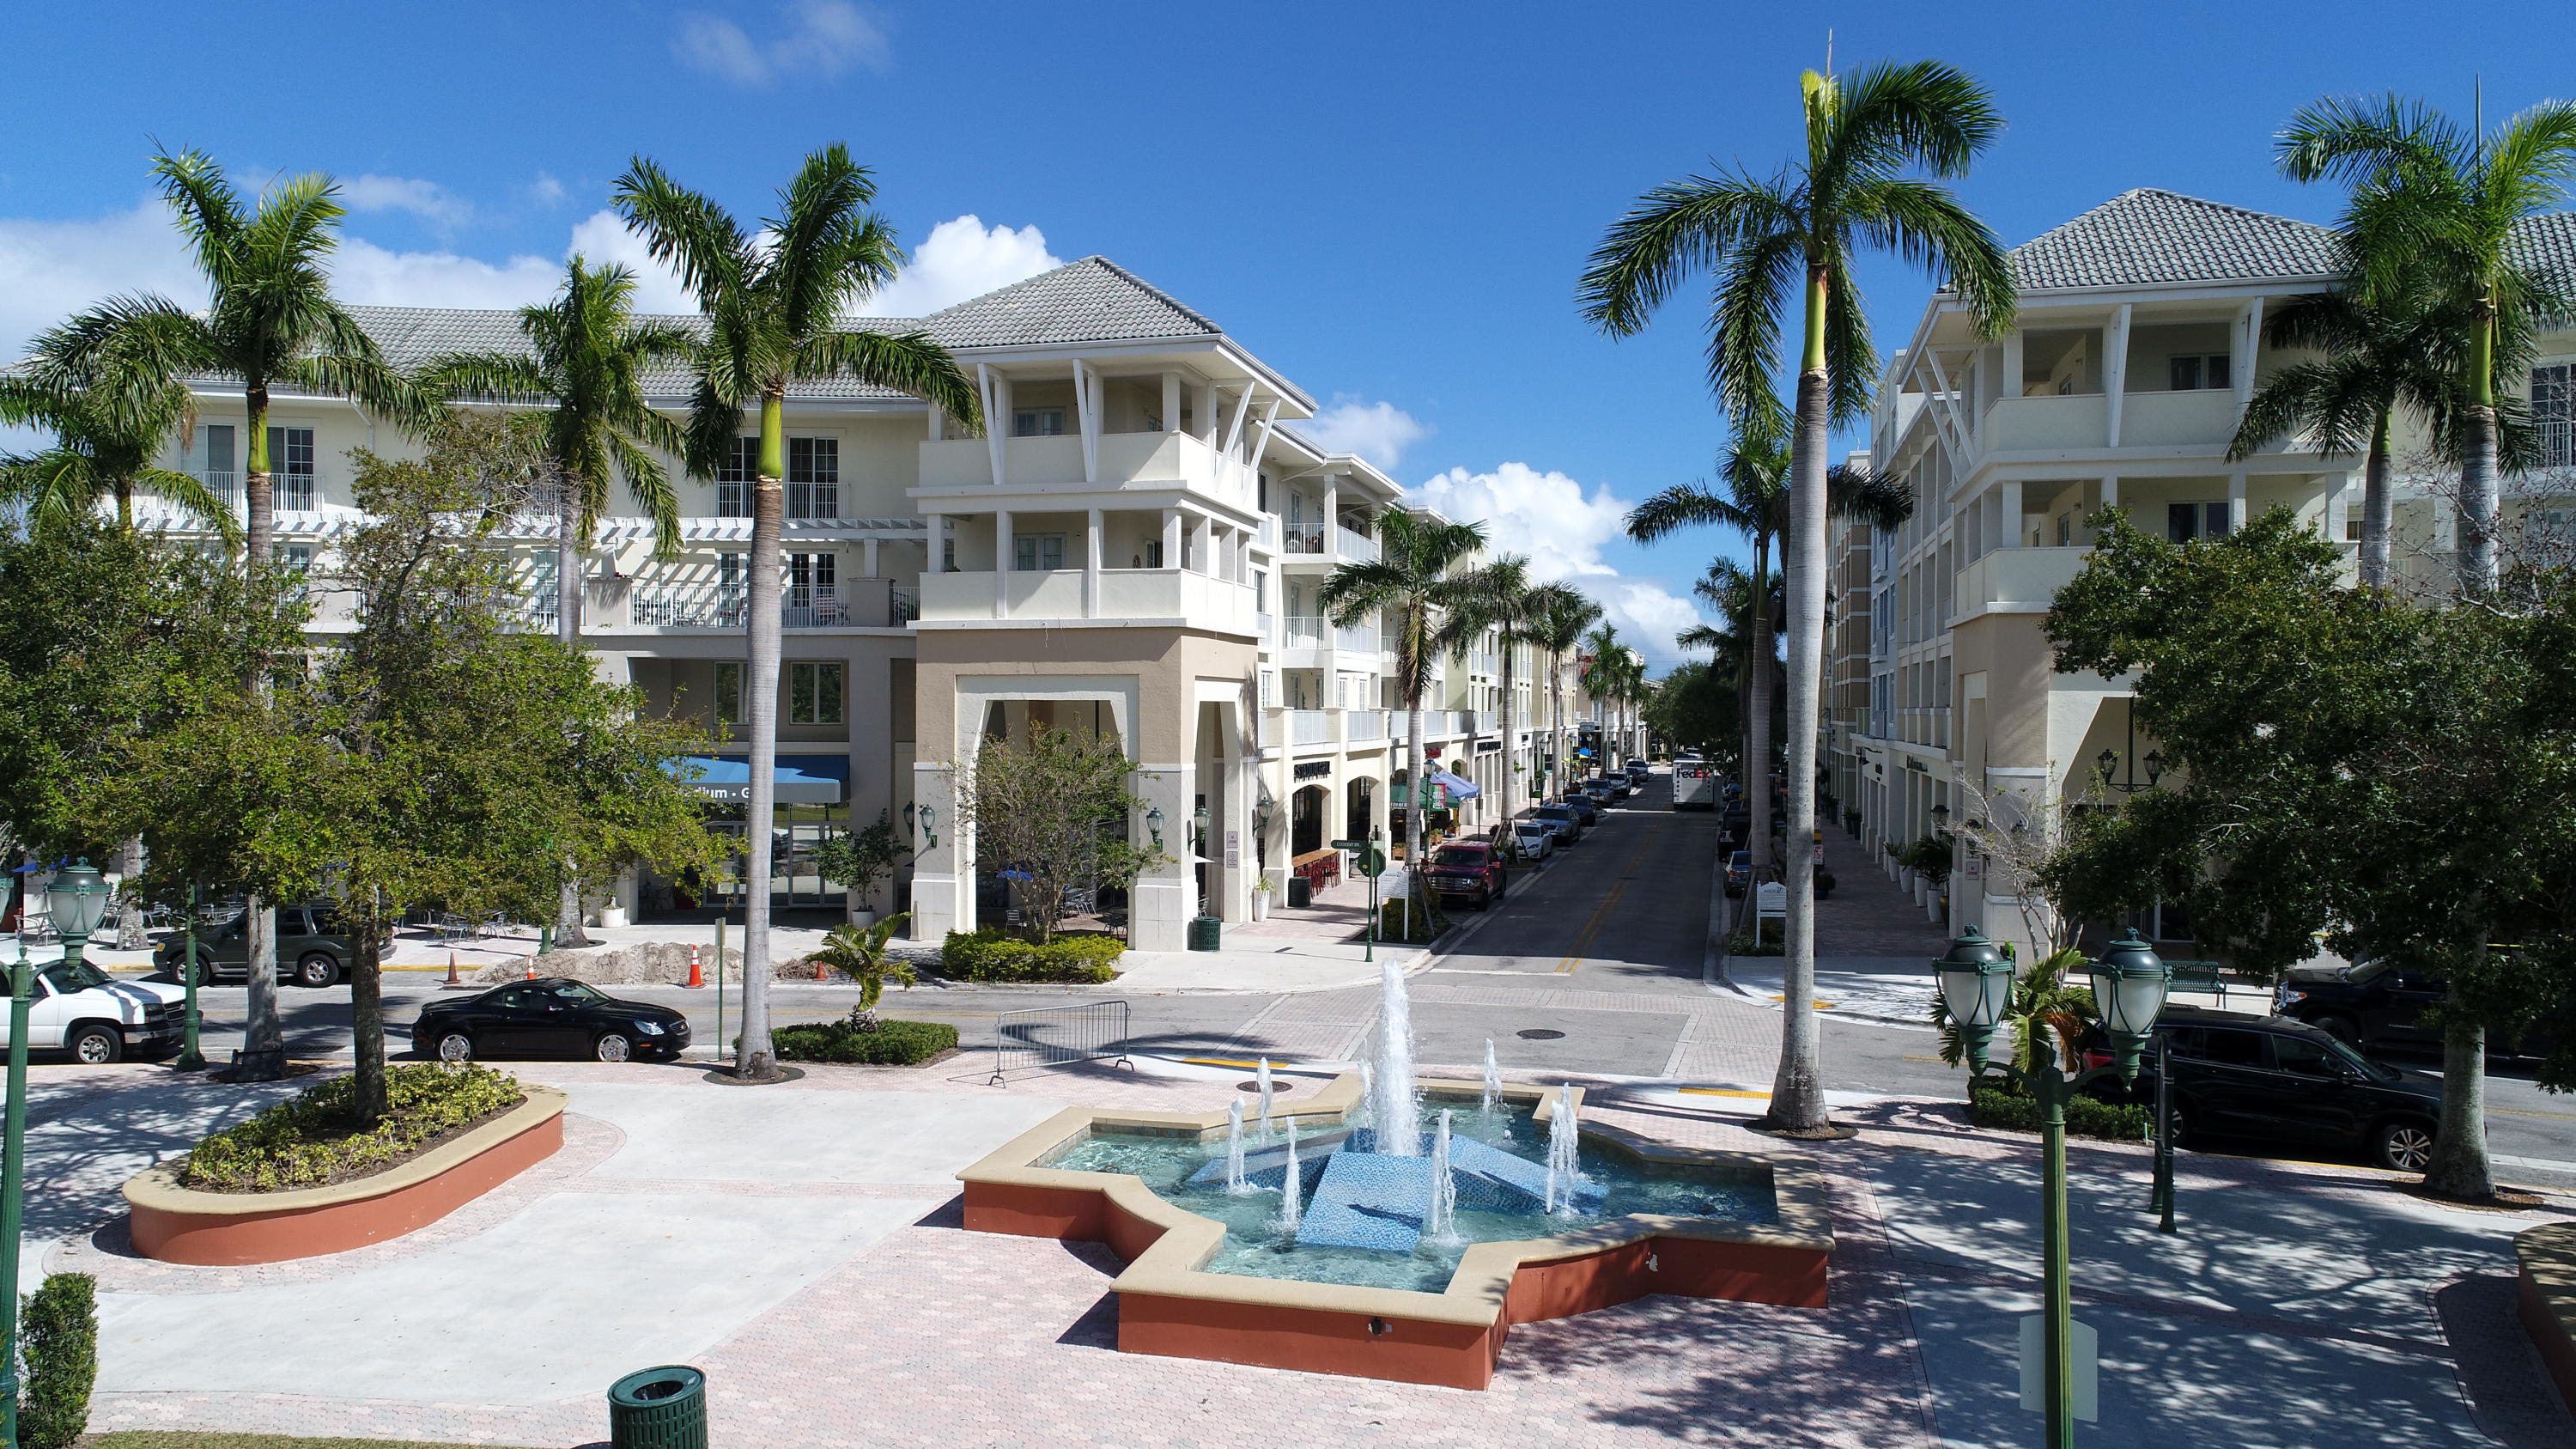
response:
M2166 1006L2156 1036L2174 1062L2174 1145L2208 1137L2360 1147L2380 1168L2421 1173L2442 1122L2442 1078L2406 1073L2287 1016ZM2094 1029L2087 1060L2110 1062ZM2156 1042L2130 1101L2156 1101Z

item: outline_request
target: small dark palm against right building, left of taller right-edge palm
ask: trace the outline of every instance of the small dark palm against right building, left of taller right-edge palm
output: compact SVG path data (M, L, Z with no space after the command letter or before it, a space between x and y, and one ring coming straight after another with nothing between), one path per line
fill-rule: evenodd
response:
M2264 325L2275 348L2324 353L2272 374L2246 402L2228 462L2275 438L2308 433L2316 454L2365 454L2362 588L2388 588L2388 492L2396 459L2388 431L2398 407L2434 423L2434 436L2460 431L2458 317L2432 309L2421 278L2375 302L2367 286L2295 297Z

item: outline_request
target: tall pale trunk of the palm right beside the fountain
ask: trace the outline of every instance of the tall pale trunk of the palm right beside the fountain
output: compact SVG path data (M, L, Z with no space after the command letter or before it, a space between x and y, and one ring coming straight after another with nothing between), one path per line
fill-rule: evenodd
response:
M1816 722L1824 665L1824 266L1808 266L1806 369L1798 374L1798 438L1790 449L1790 523L1780 541L1788 583L1788 920L1780 951L1780 1070L1772 1078L1770 1124L1824 1134L1821 1036L1816 1029Z

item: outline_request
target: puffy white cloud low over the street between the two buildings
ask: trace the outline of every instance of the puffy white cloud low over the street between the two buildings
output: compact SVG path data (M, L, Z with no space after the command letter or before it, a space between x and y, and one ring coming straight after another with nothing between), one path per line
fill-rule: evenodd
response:
M1602 557L1602 547L1628 526L1631 508L1607 485L1584 492L1561 472L1515 462L1494 472L1453 467L1406 492L1448 518L1484 523L1492 552L1530 557L1530 578L1592 596L1605 621L1654 668L1680 660L1672 637L1703 621L1662 580L1625 578Z

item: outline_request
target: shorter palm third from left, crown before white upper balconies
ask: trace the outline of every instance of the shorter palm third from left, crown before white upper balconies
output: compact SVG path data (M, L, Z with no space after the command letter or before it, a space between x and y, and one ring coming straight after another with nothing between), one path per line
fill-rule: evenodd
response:
M644 374L657 364L688 358L693 340L670 322L639 322L634 291L634 273L623 266L592 271L574 255L554 302L518 309L526 351L446 353L422 369L422 384L448 397L549 407L546 459L554 464L556 503L554 627L569 647L582 642L580 547L598 531L600 513L608 513L613 477L623 474L626 490L652 516L654 559L680 557L680 495L647 449L685 454L688 438L644 400ZM577 869L564 871L554 931L559 946L587 944Z

